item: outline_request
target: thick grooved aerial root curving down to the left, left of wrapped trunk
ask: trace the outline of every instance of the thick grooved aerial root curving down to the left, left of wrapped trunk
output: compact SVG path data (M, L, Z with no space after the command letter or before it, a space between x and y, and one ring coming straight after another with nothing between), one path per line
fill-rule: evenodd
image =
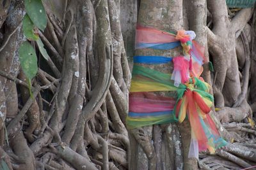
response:
M85 121L90 120L95 112L103 103L109 86L111 84L111 75L113 72L113 49L111 46L111 31L109 27L108 8L106 9L106 1L100 1L99 6L95 10L97 17L97 49L99 59L99 78L97 84L92 91L92 99L83 108L83 118Z

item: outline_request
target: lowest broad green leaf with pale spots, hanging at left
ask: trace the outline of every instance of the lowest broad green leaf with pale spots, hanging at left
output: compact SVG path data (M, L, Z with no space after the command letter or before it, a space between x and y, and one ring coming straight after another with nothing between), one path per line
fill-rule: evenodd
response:
M28 42L24 41L20 45L19 49L20 66L25 75L32 80L37 73L37 57L33 46Z

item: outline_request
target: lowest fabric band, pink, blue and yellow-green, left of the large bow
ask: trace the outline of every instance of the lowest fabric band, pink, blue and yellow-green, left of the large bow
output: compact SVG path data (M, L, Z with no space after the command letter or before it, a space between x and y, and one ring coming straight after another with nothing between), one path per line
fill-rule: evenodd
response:
M175 122L174 105L173 97L156 96L150 92L131 92L127 125L129 128L135 128Z

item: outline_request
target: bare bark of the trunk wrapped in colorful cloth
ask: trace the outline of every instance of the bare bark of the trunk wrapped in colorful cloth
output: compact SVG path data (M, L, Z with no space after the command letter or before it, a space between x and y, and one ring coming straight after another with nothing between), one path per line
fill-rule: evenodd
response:
M184 27L187 20L183 15L182 1L141 1L138 15L138 25L154 27L163 31L178 31L188 29ZM175 57L182 55L182 48L173 50L136 50L136 55L161 55ZM147 66L163 73L172 73L173 66L163 64ZM166 95L168 92L157 92ZM143 139L141 139L143 132ZM189 122L180 125L153 125L131 131L130 169L196 169L196 160L188 159L190 143ZM152 143L154 141L154 143ZM163 149L165 148L165 149ZM136 155L136 156L134 156ZM172 160L173 159L173 160ZM170 161L172 160L172 161Z

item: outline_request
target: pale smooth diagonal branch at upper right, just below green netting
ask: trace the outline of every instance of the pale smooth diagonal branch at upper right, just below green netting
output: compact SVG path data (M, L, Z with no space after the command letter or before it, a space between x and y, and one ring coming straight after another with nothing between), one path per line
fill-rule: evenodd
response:
M253 10L252 8L244 8L240 10L237 15L231 21L231 31L236 33L236 38L240 35L241 31L244 28L244 25L252 17Z

